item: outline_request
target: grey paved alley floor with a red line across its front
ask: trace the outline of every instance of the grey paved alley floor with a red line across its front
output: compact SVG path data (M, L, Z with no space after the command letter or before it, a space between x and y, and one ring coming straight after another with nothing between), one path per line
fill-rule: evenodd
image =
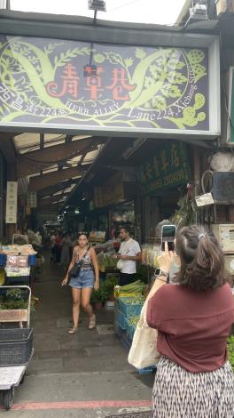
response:
M104 418L148 410L154 376L129 366L128 352L113 334L113 311L97 312L94 330L82 313L78 333L67 334L72 299L70 288L60 286L62 277L62 269L47 262L35 282L35 355L12 411L0 416Z

